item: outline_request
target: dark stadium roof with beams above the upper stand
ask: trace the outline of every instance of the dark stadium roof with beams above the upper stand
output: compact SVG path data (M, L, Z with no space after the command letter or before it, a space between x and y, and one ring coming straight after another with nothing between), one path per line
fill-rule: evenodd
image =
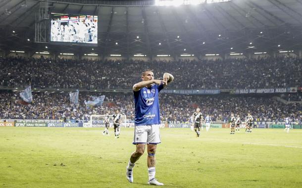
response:
M45 1L0 1L0 49L45 49L46 44L33 42L35 15ZM155 6L153 0L48 0L48 6L50 12L99 16L94 51L47 44L57 53L179 55L302 49L302 0L181 6Z

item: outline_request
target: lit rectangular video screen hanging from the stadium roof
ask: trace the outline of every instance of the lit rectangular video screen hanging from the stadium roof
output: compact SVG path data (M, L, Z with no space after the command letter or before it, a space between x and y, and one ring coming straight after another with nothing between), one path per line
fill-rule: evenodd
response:
M51 13L50 42L98 46L98 16Z

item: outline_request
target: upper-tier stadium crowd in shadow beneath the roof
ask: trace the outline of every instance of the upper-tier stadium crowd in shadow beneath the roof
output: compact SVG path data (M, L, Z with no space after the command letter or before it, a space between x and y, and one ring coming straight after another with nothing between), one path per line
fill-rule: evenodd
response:
M0 86L73 89L131 89L140 73L160 79L174 75L171 89L301 87L302 59L292 57L226 60L70 60L0 58Z

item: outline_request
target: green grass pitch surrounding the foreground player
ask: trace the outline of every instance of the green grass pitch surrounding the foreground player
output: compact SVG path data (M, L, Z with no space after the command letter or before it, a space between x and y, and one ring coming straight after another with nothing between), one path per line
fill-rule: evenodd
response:
M0 127L0 187L142 188L147 154L137 162L134 183L125 178L135 146L133 129L119 139L98 128ZM156 178L170 188L302 187L302 130L161 129ZM253 144L252 144L253 143Z

